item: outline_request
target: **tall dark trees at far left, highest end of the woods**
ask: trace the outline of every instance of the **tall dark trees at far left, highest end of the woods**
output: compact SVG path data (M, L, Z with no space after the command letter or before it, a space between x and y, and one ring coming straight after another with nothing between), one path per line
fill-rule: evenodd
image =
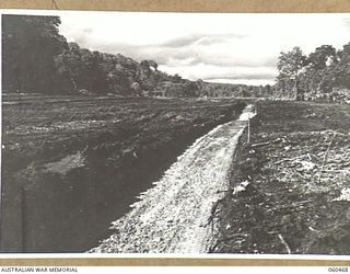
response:
M67 47L58 16L2 15L2 79L5 92L60 89L54 56Z

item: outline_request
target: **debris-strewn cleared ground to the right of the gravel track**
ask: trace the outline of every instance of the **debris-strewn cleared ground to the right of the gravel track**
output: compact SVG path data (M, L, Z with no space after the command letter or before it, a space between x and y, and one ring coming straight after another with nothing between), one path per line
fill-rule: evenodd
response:
M214 253L350 254L350 106L257 103L214 220Z

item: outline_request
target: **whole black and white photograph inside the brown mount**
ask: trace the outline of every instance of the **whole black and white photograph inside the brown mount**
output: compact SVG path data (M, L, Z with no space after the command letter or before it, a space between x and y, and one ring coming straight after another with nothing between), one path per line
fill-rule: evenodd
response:
M1 11L1 253L350 255L350 13Z

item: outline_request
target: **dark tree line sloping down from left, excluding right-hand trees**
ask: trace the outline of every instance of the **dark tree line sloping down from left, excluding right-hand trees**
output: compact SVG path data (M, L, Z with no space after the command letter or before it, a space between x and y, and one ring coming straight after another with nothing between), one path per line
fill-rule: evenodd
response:
M153 60L81 48L59 34L59 16L2 16L2 89L5 93L149 96L249 96L262 87L208 83L171 76ZM269 90L269 89L268 89Z

